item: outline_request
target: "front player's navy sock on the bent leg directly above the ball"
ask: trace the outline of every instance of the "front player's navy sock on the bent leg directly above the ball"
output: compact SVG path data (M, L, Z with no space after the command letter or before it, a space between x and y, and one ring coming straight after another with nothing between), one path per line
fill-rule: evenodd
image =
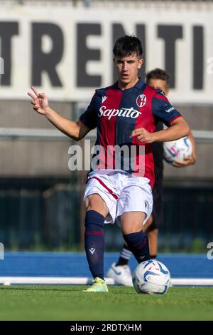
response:
M124 235L124 239L129 246L138 263L150 259L148 237L145 232L133 232Z

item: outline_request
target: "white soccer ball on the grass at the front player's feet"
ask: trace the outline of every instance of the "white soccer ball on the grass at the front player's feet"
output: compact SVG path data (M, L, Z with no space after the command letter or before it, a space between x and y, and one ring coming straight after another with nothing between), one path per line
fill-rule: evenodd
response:
M138 264L132 281L137 293L165 294L170 287L170 272L163 263L150 259Z

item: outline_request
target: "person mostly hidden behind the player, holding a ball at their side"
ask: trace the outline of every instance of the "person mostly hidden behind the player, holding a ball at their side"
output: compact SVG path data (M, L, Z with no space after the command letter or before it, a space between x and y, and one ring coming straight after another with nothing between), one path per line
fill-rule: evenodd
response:
M168 96L169 89L169 74L160 68L155 68L146 75L146 83L155 89L160 89ZM159 122L155 131L163 130L163 123ZM173 163L176 167L184 167L195 164L196 147L195 140L190 131L188 138L192 143L192 155L185 158L185 160ZM146 224L143 226L143 232L148 234L149 249L151 259L155 259L158 253L158 227L163 222L163 143L153 143L153 159L155 165L155 184L153 187L153 212L148 218ZM111 264L107 272L107 277L110 277L119 284L132 286L131 270L129 268L129 259L132 255L129 247L124 244L121 250L119 259L116 263Z

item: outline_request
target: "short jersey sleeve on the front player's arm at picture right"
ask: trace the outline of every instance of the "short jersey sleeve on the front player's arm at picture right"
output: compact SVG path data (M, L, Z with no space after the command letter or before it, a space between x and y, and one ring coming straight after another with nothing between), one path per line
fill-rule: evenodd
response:
M175 118L180 118L180 116L182 116L178 110L170 104L163 91L157 91L155 93L155 96L153 96L152 107L155 118L163 121L167 126L170 126L170 123L173 122Z

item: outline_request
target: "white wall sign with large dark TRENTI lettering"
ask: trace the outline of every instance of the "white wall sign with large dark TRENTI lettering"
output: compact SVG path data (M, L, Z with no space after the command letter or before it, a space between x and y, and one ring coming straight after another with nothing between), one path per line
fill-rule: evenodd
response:
M193 16L189 12L186 20L168 11L159 21L155 11L133 10L135 15L129 22L127 10L123 10L124 15L114 11L106 19L104 10L52 8L50 21L41 6L28 9L27 16L24 10L25 6L20 12L10 9L5 16L6 9L1 9L1 97L21 98L23 90L33 85L50 92L50 98L56 100L88 100L94 88L115 81L111 53L114 41L124 33L133 33L141 38L144 48L141 76L155 67L165 68L170 73L173 100L213 100L209 94L213 76L206 75L211 65L207 59L213 54L209 43L211 20L196 24L195 13ZM85 13L87 22L82 20ZM13 19L4 20L10 16Z

